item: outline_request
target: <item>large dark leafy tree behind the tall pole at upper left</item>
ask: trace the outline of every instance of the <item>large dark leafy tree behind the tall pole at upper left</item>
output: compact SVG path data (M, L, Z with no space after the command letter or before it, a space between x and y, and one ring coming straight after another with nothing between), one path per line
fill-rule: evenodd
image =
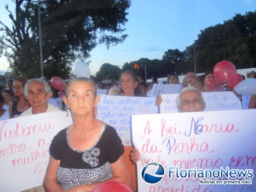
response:
M0 21L0 49L15 75L39 77L37 1L15 0L9 10L12 28ZM41 2L44 73L47 78L70 78L71 64L85 59L98 43L107 47L122 43L130 0L44 0ZM115 36L116 35L116 36Z

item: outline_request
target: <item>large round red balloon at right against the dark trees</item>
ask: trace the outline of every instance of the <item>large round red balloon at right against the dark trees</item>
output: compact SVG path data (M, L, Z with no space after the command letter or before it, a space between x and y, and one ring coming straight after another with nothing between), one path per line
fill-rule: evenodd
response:
M234 88L237 84L236 67L230 61L218 62L213 69L213 75L219 83L226 81L228 87Z

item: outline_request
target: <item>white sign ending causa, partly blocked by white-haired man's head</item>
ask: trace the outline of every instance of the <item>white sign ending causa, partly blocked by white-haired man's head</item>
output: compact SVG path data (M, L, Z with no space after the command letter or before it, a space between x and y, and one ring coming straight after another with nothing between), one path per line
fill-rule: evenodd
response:
M224 111L242 109L241 101L232 91L202 93L205 102L204 111ZM161 95L160 113L177 113L178 94Z

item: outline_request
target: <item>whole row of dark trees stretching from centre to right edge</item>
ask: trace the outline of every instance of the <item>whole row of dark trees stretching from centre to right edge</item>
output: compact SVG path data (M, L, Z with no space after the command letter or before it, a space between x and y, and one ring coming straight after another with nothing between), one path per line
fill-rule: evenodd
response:
M212 71L220 61L231 61L237 69L256 67L256 11L245 15L236 14L223 24L209 26L198 35L195 42L181 52L168 49L161 60L141 58L125 63L122 72L132 70L147 79L151 76L165 77L171 72L183 75L188 72ZM132 66L140 64L140 69ZM196 68L195 68L196 64Z

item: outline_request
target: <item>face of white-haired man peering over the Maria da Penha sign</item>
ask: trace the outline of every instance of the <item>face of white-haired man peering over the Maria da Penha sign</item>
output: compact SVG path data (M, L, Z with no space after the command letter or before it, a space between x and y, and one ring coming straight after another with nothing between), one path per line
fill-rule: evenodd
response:
M198 112L204 111L205 102L200 94L195 90L187 90L180 95L179 112Z

